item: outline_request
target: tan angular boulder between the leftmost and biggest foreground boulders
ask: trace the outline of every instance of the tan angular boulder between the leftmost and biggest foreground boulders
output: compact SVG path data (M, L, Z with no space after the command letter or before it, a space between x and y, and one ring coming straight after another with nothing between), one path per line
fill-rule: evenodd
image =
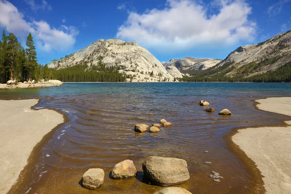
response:
M113 179L132 178L136 175L136 168L132 161L125 160L116 164L112 171Z

